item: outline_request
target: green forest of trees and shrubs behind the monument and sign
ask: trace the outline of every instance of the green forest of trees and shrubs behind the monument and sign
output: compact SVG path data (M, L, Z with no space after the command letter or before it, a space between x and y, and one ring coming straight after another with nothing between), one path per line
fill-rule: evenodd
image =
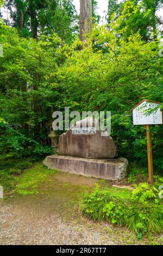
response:
M147 164L144 126L130 109L163 102L162 0L109 0L106 25L93 5L92 34L79 40L71 0L0 0L0 151L15 157L52 154L47 121L56 110L111 111L118 154ZM161 106L163 108L163 105ZM163 128L152 126L154 168L163 169Z

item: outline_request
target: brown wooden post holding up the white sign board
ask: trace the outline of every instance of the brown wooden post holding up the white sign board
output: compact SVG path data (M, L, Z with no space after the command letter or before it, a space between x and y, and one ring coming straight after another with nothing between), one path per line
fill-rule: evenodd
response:
M149 128L150 126L146 125L149 182L153 184L152 139L151 139L151 131L149 130Z

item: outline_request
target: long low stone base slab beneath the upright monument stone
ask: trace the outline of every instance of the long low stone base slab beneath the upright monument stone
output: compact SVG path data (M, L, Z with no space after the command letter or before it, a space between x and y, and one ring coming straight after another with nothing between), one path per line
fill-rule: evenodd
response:
M120 181L128 174L128 160L124 158L83 159L71 156L47 156L43 163L50 169L95 178Z

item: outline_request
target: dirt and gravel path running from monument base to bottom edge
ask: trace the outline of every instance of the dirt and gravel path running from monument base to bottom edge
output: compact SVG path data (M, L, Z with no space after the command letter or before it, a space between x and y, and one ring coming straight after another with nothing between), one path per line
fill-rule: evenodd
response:
M129 230L87 220L80 214L78 200L91 191L94 178L55 173L49 175L38 193L0 201L1 245L132 245L138 241Z

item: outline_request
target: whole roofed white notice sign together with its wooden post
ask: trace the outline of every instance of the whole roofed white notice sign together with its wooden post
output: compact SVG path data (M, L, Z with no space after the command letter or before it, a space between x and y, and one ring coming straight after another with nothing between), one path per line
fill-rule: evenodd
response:
M150 125L162 124L162 111L159 107L160 102L152 100L142 100L134 108L133 111L133 124L134 125L146 125L147 132L147 154L148 154L148 173L149 173L149 182L153 184L153 158L152 158L152 139ZM152 110L159 107L152 113L147 113L148 110Z

